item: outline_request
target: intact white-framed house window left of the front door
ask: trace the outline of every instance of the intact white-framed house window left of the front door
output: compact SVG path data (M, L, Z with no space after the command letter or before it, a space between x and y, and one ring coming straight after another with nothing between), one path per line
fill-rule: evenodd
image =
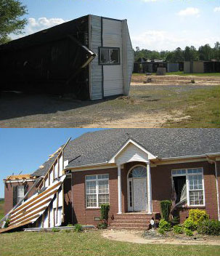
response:
M86 176L86 207L97 208L109 203L109 175Z

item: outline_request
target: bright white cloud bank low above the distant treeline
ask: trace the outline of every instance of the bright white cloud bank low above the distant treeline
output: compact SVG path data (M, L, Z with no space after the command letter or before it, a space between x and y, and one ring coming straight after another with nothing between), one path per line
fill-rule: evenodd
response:
M177 47L184 49L186 46L200 47L204 44L213 45L214 42L219 41L219 36L195 33L195 31L179 31L179 33L172 33L169 31L145 31L137 36L131 35L133 47L150 50L174 50Z

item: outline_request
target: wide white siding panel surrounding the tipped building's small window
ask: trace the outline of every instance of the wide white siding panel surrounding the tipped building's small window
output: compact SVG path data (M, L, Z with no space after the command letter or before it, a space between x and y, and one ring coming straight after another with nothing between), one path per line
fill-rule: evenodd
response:
M103 65L104 96L123 94L122 22L102 18L103 47L120 48L120 65Z

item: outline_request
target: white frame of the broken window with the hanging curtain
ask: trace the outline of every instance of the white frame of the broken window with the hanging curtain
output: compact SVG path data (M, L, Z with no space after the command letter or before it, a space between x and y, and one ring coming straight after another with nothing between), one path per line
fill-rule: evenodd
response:
M186 177L186 183L187 183L187 206L188 207L205 207L205 183L204 183L204 175L203 175L203 167L194 167L194 168L181 168L185 169L186 173L185 174L173 174L173 171L178 171L180 169L172 169L171 170L171 175L172 177L180 177L180 176L185 176ZM202 172L199 173L188 173L189 169L201 169ZM197 190L190 190L190 180L189 177L192 175L202 175L202 182L203 182L203 189L197 189ZM190 204L190 191L201 191L203 190L203 204Z

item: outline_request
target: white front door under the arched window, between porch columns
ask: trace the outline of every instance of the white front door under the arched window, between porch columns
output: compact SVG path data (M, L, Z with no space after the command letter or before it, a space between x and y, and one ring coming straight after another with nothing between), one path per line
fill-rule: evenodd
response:
M134 212L147 211L147 178L133 178Z

